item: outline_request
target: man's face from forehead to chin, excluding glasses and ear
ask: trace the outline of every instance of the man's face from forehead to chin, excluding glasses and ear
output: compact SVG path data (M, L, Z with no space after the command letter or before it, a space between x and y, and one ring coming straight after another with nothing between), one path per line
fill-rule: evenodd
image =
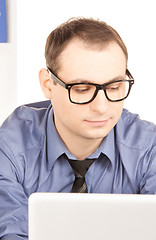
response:
M104 84L126 78L126 58L117 43L95 50L74 39L62 52L60 66L58 77L67 84L85 81ZM103 90L84 105L71 103L67 89L53 81L51 91L56 129L60 136L74 141L101 141L121 116L123 101L108 101Z

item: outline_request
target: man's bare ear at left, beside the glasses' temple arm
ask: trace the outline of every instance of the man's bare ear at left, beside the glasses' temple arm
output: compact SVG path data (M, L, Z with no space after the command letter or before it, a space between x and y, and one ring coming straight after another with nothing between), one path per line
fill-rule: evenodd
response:
M40 86L41 86L41 89L44 93L44 96L47 99L51 100L52 80L49 76L48 69L42 68L39 71L39 81L40 81Z

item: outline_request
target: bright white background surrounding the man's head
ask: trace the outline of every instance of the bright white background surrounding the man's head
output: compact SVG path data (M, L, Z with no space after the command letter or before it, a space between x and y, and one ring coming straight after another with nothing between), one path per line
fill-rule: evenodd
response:
M94 17L112 25L127 45L129 70L136 81L125 107L156 123L155 0L20 0L17 10L17 106L44 100L38 71L45 67L44 46L49 33L68 18ZM11 92L16 95L15 89ZM7 97L0 96L0 102Z

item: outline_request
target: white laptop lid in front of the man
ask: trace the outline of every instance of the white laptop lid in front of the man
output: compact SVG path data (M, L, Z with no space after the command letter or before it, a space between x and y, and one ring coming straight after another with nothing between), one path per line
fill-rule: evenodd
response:
M33 193L29 240L156 240L156 195Z

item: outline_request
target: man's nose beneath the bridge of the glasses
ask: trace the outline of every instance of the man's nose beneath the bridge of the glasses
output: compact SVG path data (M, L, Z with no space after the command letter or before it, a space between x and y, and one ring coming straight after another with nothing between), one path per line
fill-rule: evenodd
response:
M99 90L95 99L90 103L92 111L103 114L108 110L109 101L105 96L103 89Z

